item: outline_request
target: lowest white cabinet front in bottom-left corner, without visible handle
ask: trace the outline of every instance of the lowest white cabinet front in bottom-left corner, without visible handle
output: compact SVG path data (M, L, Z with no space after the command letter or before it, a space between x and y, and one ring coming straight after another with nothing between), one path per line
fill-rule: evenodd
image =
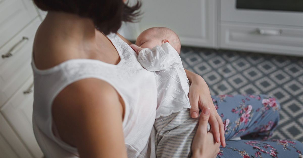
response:
M2 150L6 150L5 154L8 156L15 157L17 155L18 158L33 158L31 154L28 152L28 150L23 145L22 141L19 140L18 136L15 134L15 132L12 130L11 126L8 124L8 122L5 120L5 118L0 114L0 133L1 133L1 156L2 157ZM5 141L3 141L3 139ZM3 144L4 146L2 146ZM9 151L8 151L9 150ZM13 150L13 151L11 151ZM15 155L14 155L15 153ZM6 158L6 157L3 157Z

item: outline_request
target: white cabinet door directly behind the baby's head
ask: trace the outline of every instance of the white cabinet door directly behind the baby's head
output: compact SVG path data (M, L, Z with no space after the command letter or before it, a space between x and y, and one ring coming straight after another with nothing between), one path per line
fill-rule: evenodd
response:
M216 47L216 0L142 0L140 32L150 27L168 27L181 45Z

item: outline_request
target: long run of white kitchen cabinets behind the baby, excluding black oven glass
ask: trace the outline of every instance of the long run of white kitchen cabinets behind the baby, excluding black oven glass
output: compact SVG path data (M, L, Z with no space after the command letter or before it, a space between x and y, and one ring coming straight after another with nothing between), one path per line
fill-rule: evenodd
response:
M119 33L136 40L145 29L168 27L183 46L303 56L302 12L238 9L236 0L142 0L142 12Z

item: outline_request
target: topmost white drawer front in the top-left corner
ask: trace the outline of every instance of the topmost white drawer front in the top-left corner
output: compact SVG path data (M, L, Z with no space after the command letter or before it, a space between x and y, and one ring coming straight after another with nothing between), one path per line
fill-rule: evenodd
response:
M4 0L0 5L0 47L37 17L31 0Z

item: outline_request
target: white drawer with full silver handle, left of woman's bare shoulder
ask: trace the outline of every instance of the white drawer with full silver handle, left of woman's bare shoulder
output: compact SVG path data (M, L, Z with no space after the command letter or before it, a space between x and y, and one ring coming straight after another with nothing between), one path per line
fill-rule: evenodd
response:
M8 53L16 44L17 51L8 58L0 57L0 102L3 105L9 97L20 87L20 85L32 74L31 60L32 47L35 32L41 23L37 17L28 27L16 35L10 42L0 49L0 54ZM28 41L22 41L23 37L28 37ZM15 47L16 48L16 47Z

